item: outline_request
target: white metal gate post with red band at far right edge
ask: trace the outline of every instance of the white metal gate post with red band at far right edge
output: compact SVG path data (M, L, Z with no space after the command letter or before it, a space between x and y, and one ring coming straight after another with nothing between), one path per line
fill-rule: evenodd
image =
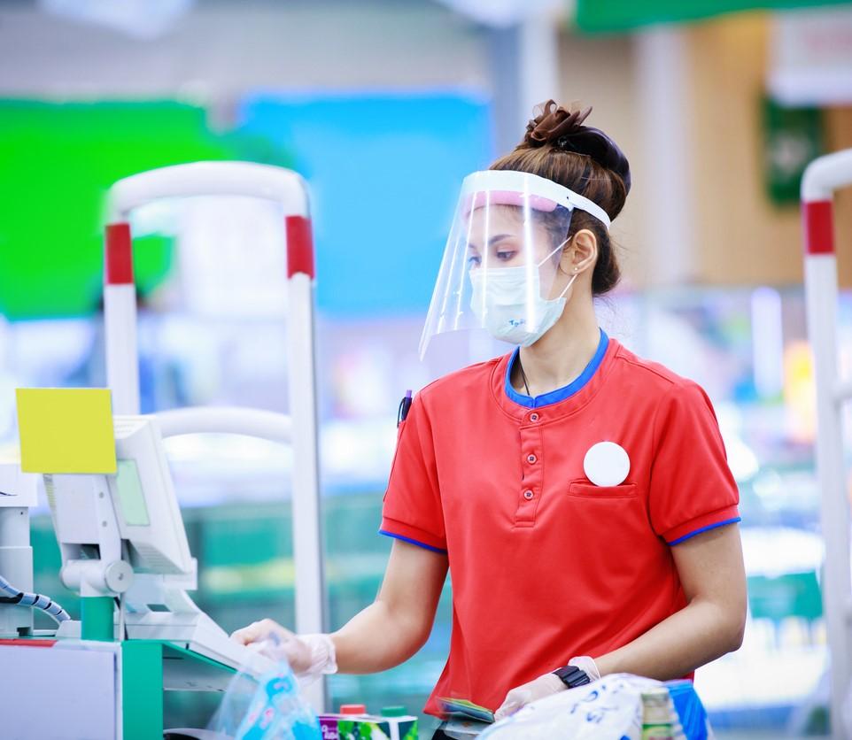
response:
M831 660L832 737L846 736L843 704L852 682L852 568L837 354L837 259L833 189L852 183L852 150L819 158L802 178L805 300L817 391L817 480L825 540L822 596Z

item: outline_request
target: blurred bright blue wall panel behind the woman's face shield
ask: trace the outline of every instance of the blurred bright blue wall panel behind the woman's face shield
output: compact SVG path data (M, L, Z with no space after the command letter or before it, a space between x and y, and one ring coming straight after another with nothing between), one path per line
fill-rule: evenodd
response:
M491 109L461 94L252 96L241 129L310 183L320 310L425 315L462 178L492 159Z

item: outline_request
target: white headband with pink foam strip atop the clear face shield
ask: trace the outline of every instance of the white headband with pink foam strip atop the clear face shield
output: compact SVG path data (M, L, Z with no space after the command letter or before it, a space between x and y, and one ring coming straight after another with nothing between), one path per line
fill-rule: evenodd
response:
M536 174L515 170L483 170L469 174L461 184L462 197L469 197L466 211L484 205L479 200L489 194L489 204L529 204L536 211L553 211L557 205L585 211L609 228L612 221L600 205L558 183Z

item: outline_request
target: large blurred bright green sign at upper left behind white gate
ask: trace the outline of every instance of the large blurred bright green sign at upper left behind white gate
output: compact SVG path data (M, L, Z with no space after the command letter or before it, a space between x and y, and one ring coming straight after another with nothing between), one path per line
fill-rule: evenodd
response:
M205 110L188 104L0 101L0 314L96 312L107 189L130 174L201 159L288 164L255 135L214 134ZM169 271L171 239L136 240L134 260L145 293Z

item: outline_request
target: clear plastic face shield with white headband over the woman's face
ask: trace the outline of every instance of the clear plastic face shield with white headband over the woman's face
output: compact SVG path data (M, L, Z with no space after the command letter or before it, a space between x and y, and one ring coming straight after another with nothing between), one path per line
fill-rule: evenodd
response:
M576 277L562 254L577 208L609 227L600 206L537 175L468 175L423 328L421 358L432 337L445 332L484 328L529 346L551 328Z

